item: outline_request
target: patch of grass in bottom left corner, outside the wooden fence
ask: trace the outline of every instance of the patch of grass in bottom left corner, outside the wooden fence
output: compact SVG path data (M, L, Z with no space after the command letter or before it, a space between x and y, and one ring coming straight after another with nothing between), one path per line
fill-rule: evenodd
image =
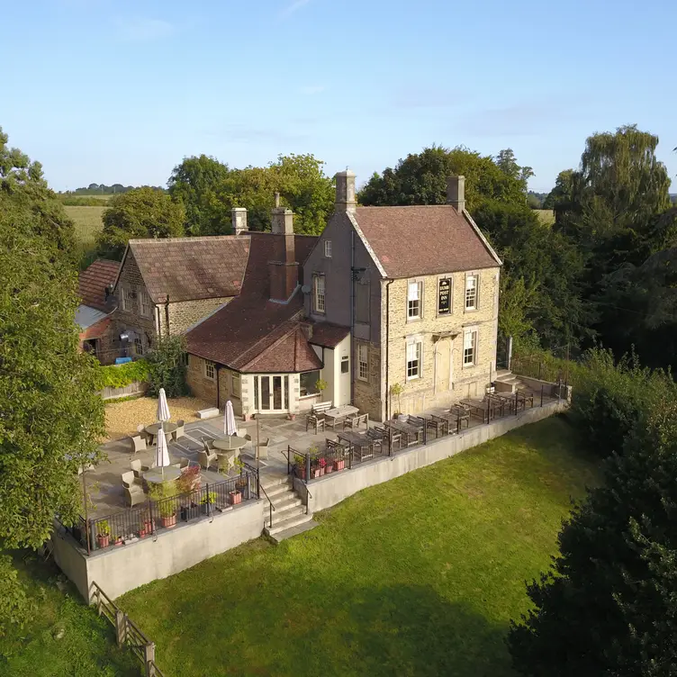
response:
M0 636L0 675L12 677L139 677L141 663L115 644L113 626L86 607L54 564L27 552L14 564L37 605L23 631Z

